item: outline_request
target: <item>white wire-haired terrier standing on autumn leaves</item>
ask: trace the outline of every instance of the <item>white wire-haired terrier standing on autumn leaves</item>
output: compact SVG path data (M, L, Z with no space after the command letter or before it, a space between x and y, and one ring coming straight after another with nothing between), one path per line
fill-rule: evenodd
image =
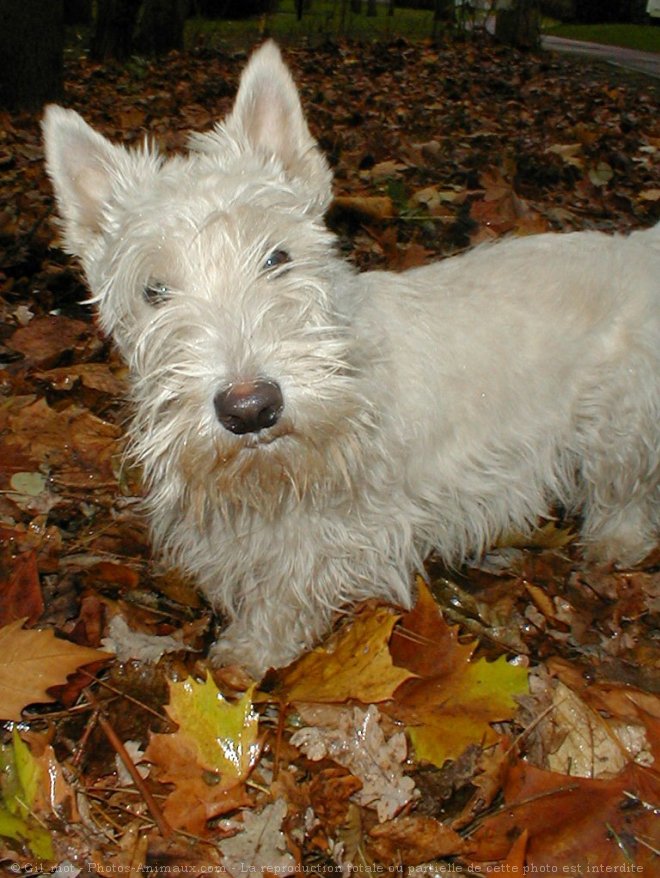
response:
M69 252L130 365L154 539L230 620L216 659L289 662L333 614L411 601L552 503L586 551L660 526L660 231L539 235L356 273L272 43L186 156L50 107Z

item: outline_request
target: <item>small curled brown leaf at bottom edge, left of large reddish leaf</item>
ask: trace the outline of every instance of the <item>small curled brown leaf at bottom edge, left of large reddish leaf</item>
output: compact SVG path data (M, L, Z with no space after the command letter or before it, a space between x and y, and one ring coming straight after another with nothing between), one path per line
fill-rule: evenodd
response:
M433 817L409 814L374 826L369 833L369 855L387 866L418 866L463 852L461 836Z

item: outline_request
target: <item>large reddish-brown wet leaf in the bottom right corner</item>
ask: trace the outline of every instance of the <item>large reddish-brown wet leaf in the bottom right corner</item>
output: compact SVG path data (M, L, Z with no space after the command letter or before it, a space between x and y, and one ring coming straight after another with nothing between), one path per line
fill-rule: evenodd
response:
M472 863L504 859L527 832L528 868L600 872L634 864L653 874L660 777L651 769L629 764L614 778L594 780L520 761L508 772L504 800L468 840Z

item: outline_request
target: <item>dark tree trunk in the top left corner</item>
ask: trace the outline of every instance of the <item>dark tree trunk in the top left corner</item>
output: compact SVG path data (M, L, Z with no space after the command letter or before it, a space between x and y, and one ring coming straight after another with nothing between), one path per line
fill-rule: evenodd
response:
M0 105L31 109L62 96L62 0L0 0Z

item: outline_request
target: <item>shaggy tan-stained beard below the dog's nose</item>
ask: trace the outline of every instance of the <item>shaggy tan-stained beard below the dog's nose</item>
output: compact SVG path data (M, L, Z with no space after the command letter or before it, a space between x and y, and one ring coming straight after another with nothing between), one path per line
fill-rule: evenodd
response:
M305 409L305 420L283 416L258 433L234 436L194 403L139 404L131 452L143 469L148 503L184 504L201 521L220 512L252 511L274 519L291 505L310 508L360 484L375 421L359 393L343 392ZM371 437L372 442L369 442Z

